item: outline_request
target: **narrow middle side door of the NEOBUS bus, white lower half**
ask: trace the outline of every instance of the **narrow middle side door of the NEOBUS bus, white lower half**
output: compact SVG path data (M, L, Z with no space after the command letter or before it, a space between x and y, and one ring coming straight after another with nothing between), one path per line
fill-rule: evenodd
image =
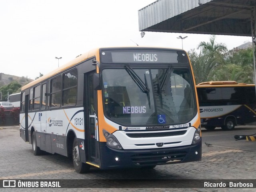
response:
M40 112L39 112L39 119L41 122L41 131L46 132L46 106L47 106L47 83L43 82L41 84L41 101L40 101Z

